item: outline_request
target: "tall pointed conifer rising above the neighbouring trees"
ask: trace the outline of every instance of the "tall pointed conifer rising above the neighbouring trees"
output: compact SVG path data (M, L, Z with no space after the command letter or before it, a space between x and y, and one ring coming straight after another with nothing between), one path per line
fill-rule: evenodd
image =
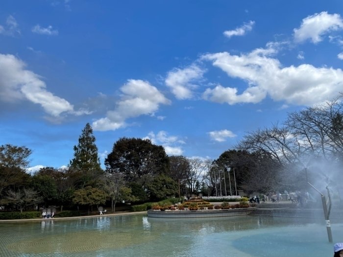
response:
M93 129L87 123L78 139L78 145L74 146L74 158L70 161L72 169L81 171L101 170L95 140Z

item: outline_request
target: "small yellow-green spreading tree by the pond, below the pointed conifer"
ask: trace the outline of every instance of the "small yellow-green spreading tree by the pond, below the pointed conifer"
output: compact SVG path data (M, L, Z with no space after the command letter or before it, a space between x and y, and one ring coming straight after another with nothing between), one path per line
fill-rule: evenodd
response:
M88 215L93 205L104 204L107 194L95 187L84 187L78 189L73 194L73 204L88 206Z

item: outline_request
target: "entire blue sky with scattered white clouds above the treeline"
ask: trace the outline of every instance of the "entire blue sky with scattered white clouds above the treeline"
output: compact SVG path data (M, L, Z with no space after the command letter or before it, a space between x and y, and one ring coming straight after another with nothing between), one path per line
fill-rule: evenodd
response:
M8 0L0 144L61 167L85 124L217 159L247 131L343 92L341 0Z

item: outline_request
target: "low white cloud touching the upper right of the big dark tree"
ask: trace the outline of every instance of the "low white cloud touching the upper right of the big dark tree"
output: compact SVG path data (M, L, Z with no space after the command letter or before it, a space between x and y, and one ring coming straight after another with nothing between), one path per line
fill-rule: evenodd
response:
M162 145L168 155L182 155L183 150L179 144L184 144L183 140L179 140L176 136L168 136L166 131L159 131L157 134L150 132L144 139L151 140L154 144Z

